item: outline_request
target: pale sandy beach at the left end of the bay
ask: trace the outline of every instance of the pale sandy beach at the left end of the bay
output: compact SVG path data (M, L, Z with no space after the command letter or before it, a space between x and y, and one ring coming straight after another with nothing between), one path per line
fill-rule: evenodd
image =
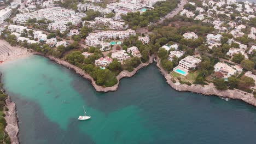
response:
M2 63L30 55L33 54L28 52L26 48L10 46L7 41L0 40L0 61L2 61Z

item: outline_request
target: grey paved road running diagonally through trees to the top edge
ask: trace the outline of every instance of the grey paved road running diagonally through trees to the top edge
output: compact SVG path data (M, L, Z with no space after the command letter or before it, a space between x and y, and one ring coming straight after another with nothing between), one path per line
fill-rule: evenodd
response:
M179 13L179 11L182 11L182 10L183 10L184 5L185 5L186 3L188 3L188 0L183 0L183 1L181 1L181 3L178 4L178 7L177 7L177 8L175 8L174 10L172 10L172 11L171 11L169 14L167 14L166 16L162 17L158 22L156 22L156 23L154 23L154 24L153 24L153 23L152 23L152 24L149 23L148 26L150 26L150 25L159 25L160 23L164 22L165 19L169 19L169 18L171 18L171 17L177 15L177 14ZM136 32L137 32L137 33L149 33L147 27L138 28L138 29L136 30Z

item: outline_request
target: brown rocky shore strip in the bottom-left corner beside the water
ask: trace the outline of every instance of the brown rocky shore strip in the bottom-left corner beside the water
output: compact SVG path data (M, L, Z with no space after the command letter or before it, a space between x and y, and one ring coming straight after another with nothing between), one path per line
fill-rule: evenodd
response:
M1 82L2 74L0 73L0 82ZM5 92L3 88L1 88L2 92ZM19 126L18 126L18 117L16 111L16 105L13 101L10 100L8 96L5 100L5 106L8 108L8 111L4 111L5 121L7 126L5 127L5 131L8 133L10 137L10 141L12 144L19 144Z

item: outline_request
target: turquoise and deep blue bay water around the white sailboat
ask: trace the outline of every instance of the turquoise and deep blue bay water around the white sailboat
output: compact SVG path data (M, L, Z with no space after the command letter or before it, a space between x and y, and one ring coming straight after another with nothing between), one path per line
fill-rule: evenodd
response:
M40 56L0 65L16 103L21 143L255 143L256 107L176 92L155 64L96 92L74 71ZM92 118L78 121L83 105Z

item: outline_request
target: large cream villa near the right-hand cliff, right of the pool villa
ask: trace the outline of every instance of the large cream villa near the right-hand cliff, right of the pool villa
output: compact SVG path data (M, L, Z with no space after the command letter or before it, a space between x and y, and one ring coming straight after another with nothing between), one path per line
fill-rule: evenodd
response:
M222 73L224 78L228 78L236 73L236 70L229 67L228 64L220 62L214 65L214 71Z

